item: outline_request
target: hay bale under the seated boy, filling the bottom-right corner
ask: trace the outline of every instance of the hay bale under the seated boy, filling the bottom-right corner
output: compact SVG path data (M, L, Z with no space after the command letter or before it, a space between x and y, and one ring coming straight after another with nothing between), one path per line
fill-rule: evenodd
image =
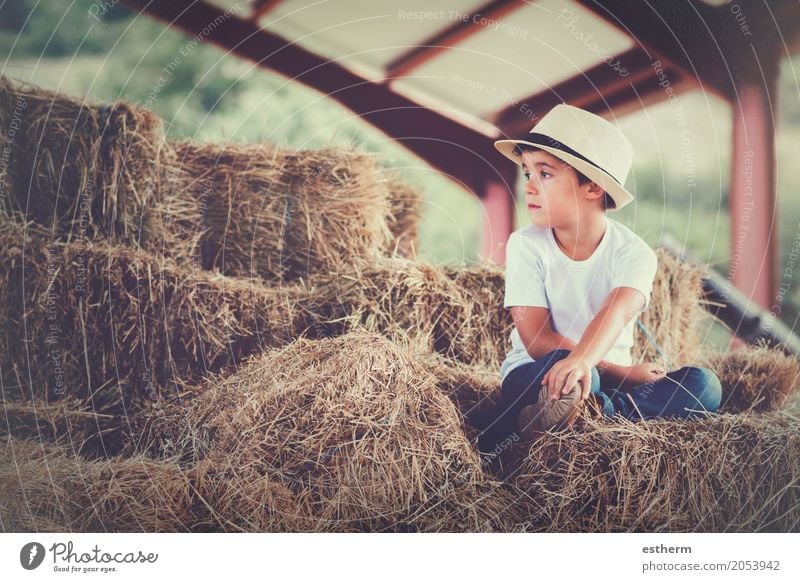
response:
M582 426L545 434L516 465L511 481L532 500L531 530L786 532L800 523L790 415Z

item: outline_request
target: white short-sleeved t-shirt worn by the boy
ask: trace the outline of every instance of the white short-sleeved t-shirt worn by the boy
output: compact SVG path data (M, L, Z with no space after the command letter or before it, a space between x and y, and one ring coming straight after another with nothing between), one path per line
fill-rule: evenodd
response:
M625 225L605 218L606 232L585 261L573 261L565 255L548 227L531 224L511 233L506 244L503 307L547 307L554 331L575 343L616 287L640 290L645 297L641 311L646 310L658 268L656 253ZM602 359L631 365L635 319L626 324ZM517 366L533 361L515 326L511 350L500 367L501 376L505 379Z

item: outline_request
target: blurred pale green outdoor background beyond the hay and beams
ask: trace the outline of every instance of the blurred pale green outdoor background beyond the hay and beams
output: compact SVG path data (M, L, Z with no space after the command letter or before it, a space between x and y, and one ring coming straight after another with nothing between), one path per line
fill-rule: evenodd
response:
M289 3L291 4L291 3ZM120 98L165 120L171 138L274 142L296 148L357 145L379 153L424 193L419 255L436 263L472 264L481 256L484 221L479 199L363 122L336 101L207 43L187 50L189 37L122 3L96 0L0 4L2 72L43 88L97 101ZM186 53L164 75L166 64ZM519 66L535 69L535 53ZM798 57L780 62L777 118L777 204L781 273L800 236L800 91ZM157 82L159 77L163 82ZM154 91L154 89L157 89ZM628 186L637 202L614 218L651 246L671 236L725 276L731 256L728 194L732 111L709 92L681 93L691 128L693 184L687 181L674 105L662 101L627 113L618 123L636 156ZM465 163L468 163L465 160ZM521 176L520 176L521 178ZM521 182L515 185L521 191ZM516 210L515 228L526 223ZM796 257L795 257L796 259ZM794 328L800 287L791 277L780 318Z

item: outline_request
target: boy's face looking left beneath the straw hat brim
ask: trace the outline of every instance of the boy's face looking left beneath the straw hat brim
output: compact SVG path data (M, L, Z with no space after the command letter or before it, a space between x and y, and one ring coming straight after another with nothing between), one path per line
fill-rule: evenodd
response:
M547 152L523 151L525 202L537 226L577 224L592 182L578 184L574 168Z

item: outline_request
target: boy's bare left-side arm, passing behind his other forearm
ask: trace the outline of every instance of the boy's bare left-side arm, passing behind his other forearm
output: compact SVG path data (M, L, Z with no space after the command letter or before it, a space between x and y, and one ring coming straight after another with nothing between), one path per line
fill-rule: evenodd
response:
M550 310L546 307L511 307L511 317L525 349L534 359L542 358L548 352L557 349L567 349L572 352L578 345L553 329ZM595 366L600 373L608 374L619 382L628 374L627 366L606 360L600 360Z

